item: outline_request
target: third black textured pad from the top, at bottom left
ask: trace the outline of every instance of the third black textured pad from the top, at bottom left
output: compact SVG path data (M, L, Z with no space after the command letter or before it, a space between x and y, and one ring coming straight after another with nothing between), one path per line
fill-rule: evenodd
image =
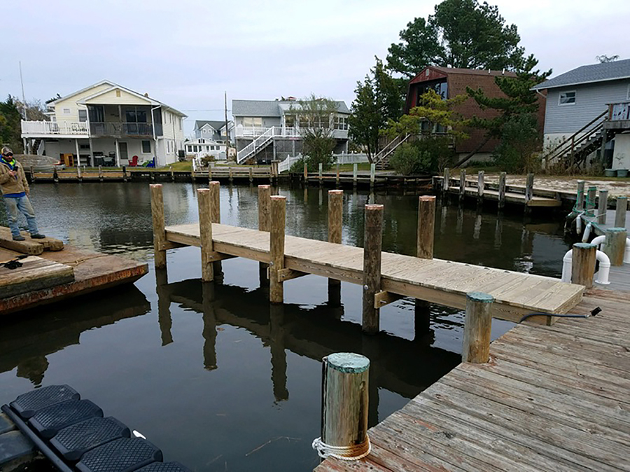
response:
M116 418L90 418L59 431L50 445L66 461L76 462L94 447L130 436L129 428Z

